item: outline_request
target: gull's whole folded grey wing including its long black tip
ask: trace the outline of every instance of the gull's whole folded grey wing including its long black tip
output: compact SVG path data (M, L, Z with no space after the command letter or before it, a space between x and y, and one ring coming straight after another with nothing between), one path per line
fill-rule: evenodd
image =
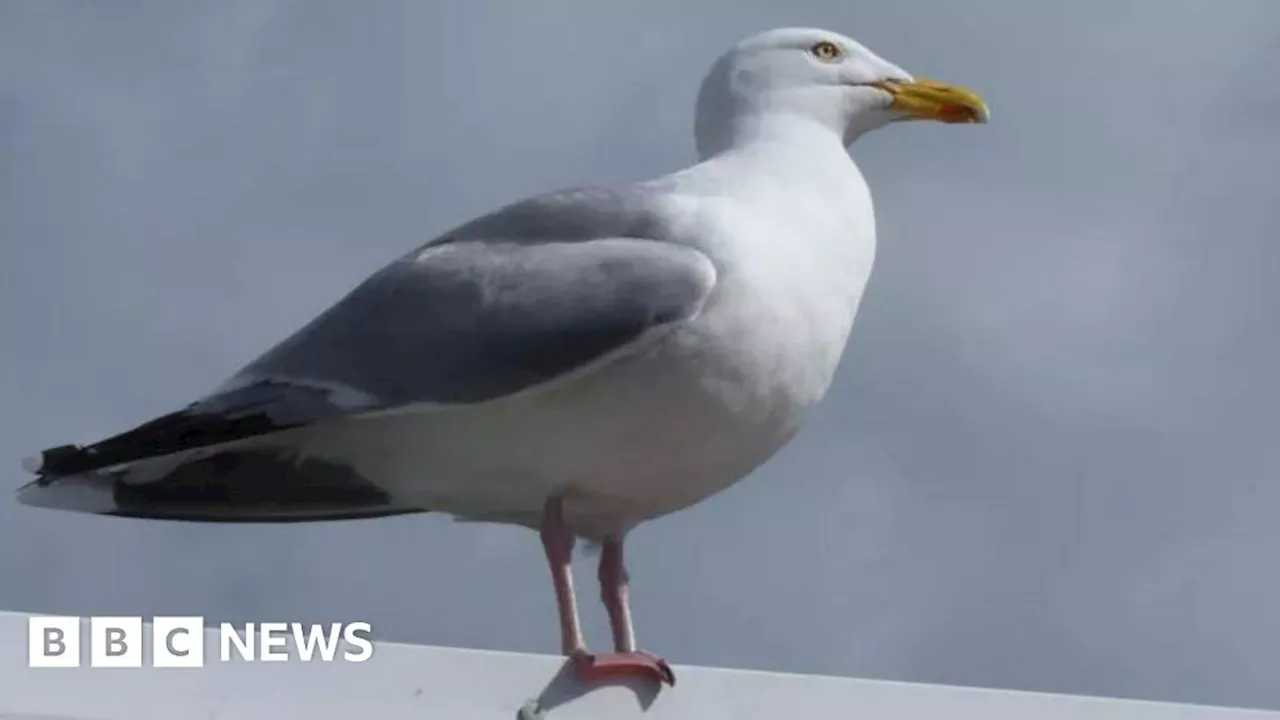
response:
M471 404L584 368L692 318L701 252L643 238L429 245L388 265L220 391L35 471L83 473L413 402Z

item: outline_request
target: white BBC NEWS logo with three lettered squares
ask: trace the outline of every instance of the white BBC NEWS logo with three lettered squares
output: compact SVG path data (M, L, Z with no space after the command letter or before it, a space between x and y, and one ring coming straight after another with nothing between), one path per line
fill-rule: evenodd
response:
M88 648L90 667L204 667L204 618L152 618L150 643L142 618L32 616L27 620L28 667L79 667ZM219 662L364 662L374 656L369 623L223 623L216 630ZM214 648L207 648L212 651Z

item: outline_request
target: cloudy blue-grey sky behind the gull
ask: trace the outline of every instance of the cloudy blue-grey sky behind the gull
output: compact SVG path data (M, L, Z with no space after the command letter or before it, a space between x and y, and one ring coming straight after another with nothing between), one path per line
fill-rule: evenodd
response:
M705 68L776 26L969 85L993 122L854 147L881 250L836 386L765 468L634 533L641 643L1280 708L1274 0L0 0L0 486L477 213L689 164ZM13 610L557 647L536 537L444 518L10 500L0 578Z

